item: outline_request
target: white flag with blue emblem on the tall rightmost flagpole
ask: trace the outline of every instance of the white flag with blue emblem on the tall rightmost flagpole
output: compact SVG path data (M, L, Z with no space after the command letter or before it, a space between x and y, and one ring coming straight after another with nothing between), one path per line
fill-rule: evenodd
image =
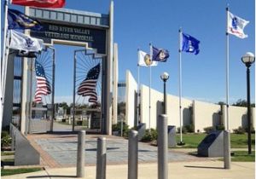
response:
M243 32L243 29L248 23L249 21L243 20L228 11L228 33L235 35L237 38L247 38L248 36Z

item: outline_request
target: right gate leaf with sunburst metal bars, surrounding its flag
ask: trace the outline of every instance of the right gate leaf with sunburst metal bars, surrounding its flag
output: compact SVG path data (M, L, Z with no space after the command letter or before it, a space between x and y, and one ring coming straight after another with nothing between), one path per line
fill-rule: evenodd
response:
M73 71L73 131L75 130L75 113L78 105L88 105L93 107L89 102L89 96L78 95L79 84L87 77L90 69L97 64L101 64L99 77L96 82L97 105L94 105L94 111L100 111L102 117L102 57L96 56L94 51L88 49L78 49L74 51L74 71ZM103 121L101 120L100 129L102 131Z

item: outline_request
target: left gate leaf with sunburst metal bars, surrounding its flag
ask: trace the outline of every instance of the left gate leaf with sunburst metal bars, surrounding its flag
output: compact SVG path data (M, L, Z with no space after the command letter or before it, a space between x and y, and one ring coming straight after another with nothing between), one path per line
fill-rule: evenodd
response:
M40 104L42 107L38 107L38 104L33 101L33 97L37 90L37 78L34 65L35 61L38 61L44 67L45 77L49 81L51 89L51 93L49 95L42 95L42 102ZM55 49L45 47L42 52L36 56L36 58L31 59L29 69L31 70L31 75L29 83L29 121L28 124L26 124L28 125L27 132L30 134L32 132L53 131L53 122L55 119ZM37 112L39 112L39 117L36 115ZM45 116L43 115L43 112L46 112ZM48 112L50 112L50 118L48 118ZM38 118L37 123L32 124L36 121L34 120L35 118Z

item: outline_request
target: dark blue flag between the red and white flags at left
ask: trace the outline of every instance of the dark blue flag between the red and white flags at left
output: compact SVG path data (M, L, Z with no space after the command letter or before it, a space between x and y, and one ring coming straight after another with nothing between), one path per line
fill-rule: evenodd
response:
M8 28L39 31L43 26L40 25L38 20L33 20L26 14L20 13L18 10L8 9Z

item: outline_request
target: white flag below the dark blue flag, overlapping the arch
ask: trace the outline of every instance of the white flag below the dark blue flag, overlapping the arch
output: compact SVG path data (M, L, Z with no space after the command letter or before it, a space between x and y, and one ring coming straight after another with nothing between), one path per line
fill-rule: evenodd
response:
M10 38L10 49L18 49L26 53L39 52L43 49L43 40L38 38L31 38L24 33L10 30Z

